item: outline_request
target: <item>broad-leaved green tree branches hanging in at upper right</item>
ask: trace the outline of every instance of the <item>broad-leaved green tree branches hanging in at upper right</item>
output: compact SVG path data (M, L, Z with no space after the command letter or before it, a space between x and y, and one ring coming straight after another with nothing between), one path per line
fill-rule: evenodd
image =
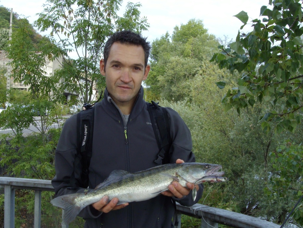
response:
M275 123L277 133L294 131L302 120L303 42L301 36L302 1L269 1L272 9L262 6L261 20L252 20L253 31L238 32L236 41L228 48L219 46L210 61L220 68L242 73L238 87L231 88L222 100L226 110L253 106L256 102L268 105L261 118L264 131L270 130L269 121ZM235 15L244 25L248 15L242 11ZM218 82L220 88L225 82Z

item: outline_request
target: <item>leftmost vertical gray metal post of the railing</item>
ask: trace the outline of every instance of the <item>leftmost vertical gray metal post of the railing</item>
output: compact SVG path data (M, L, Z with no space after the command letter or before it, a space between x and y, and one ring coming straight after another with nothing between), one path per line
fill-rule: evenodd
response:
M15 189L4 186L4 227L15 228Z

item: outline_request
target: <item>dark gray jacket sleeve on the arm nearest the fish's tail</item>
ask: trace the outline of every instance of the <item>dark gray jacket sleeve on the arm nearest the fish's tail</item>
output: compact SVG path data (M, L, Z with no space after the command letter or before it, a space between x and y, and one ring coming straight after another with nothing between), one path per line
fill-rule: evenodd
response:
M77 115L68 118L62 128L62 132L55 151L55 171L56 175L52 179L52 185L55 189L55 196L62 196L72 193L84 193L91 191L81 186L75 181L76 186L71 186L70 179L74 170L74 161L77 155ZM95 210L92 206L85 207L78 216L84 219L96 218L101 212Z

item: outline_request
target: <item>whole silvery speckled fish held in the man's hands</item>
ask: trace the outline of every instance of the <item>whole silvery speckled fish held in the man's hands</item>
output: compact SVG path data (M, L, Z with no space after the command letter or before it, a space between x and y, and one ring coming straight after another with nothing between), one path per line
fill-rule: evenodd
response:
M68 225L83 208L104 196L108 196L108 202L118 198L117 205L148 200L168 191L168 185L173 181L186 187L187 182L195 185L202 183L206 176L222 176L224 172L218 172L221 168L221 165L192 162L159 165L135 173L114 170L94 190L58 196L51 203L64 209L62 225Z

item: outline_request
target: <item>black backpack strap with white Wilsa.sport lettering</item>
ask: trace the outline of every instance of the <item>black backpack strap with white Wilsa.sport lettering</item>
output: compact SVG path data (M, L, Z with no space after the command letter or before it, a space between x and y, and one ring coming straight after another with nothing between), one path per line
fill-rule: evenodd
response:
M88 186L88 167L92 157L92 139L94 132L95 107L90 107L77 114L77 142L78 149L74 161L74 171L70 184L74 187L76 180L80 187Z

